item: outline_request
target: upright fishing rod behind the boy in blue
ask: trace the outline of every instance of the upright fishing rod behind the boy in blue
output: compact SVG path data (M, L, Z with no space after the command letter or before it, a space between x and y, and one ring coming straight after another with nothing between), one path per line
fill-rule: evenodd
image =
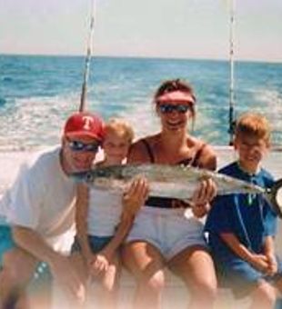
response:
M234 117L234 26L235 26L235 1L230 1L229 14L229 64L230 64L230 85L229 85L229 145L233 145L236 119Z

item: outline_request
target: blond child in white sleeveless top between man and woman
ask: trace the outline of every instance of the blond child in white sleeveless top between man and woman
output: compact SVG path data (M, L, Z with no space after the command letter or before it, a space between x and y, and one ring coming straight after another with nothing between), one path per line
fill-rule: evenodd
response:
M105 126L102 144L105 158L97 166L123 164L134 137L124 120L112 119ZM145 179L136 179L126 194L91 188L82 184L77 189L76 243L84 259L81 272L101 281L99 308L116 305L116 277L120 270L118 247L126 237L138 208L144 204L148 186ZM97 300L96 300L97 301Z

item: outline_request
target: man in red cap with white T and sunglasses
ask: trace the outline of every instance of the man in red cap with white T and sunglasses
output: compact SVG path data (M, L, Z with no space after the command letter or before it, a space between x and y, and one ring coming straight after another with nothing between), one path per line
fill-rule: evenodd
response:
M5 252L0 252L1 308L26 307L25 287L40 261L68 294L76 300L84 297L79 276L64 254L74 230L76 199L76 184L68 175L90 168L103 135L98 116L71 115L61 146L35 154L7 192L2 207L11 228L0 226L5 242Z

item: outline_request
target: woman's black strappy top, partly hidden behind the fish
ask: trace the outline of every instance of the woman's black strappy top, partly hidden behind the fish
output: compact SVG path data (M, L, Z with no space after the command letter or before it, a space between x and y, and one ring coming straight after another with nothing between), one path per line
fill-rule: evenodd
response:
M156 162L155 156L153 154L152 148L146 139L142 139L141 142L145 145L147 154L150 158L150 162L154 164ZM196 151L196 154L193 157L186 158L177 162L177 165L191 165L191 166L199 166L199 158L203 153L203 149L205 148L206 144L201 145L201 147ZM156 197L150 196L146 200L146 205L151 207L159 207L159 208L179 208L179 207L186 207L186 203L182 200L178 200L175 198L169 197Z

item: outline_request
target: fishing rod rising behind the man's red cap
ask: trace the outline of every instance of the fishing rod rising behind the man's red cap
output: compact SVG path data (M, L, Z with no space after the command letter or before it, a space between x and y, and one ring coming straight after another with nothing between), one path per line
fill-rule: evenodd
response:
M96 11L95 0L92 0L90 28L89 28L89 35L88 35L88 40L87 40L86 64L85 64L84 78L83 78L83 84L82 84L81 95L80 95L79 112L83 112L86 110L87 82L88 82L88 77L89 77L90 60L91 60L92 49L93 49L95 11Z

